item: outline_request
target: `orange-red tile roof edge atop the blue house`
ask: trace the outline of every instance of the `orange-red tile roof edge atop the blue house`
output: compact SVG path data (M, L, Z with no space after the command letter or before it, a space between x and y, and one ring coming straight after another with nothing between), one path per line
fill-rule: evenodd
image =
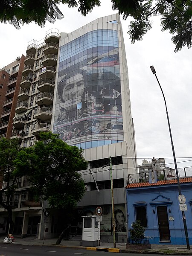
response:
M180 183L192 182L192 177L180 178ZM166 184L176 184L177 179L174 180L159 180L157 183L149 183L149 182L141 182L141 183L130 183L126 186L126 189L129 188L137 188L137 187L145 187L145 186L160 186Z

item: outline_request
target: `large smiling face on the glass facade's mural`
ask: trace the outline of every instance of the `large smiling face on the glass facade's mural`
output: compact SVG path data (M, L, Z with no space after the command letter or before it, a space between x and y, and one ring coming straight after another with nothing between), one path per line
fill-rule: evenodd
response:
M68 100L81 99L84 92L84 79L81 74L76 74L66 79L62 98L64 102Z

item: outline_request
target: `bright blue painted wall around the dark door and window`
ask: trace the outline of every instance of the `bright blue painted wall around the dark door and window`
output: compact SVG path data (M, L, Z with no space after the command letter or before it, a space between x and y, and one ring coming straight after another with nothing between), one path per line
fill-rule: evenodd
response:
M186 197L186 224L189 243L192 244L192 183L181 183L180 185L182 194ZM128 188L126 189L126 196L128 229L131 228L131 223L136 220L134 204L145 205L146 203L148 227L145 230L145 237L150 239L151 244L167 244L167 242L160 242L156 208L157 206L167 206L168 218L174 218L173 221L169 220L170 244L186 244L177 184Z

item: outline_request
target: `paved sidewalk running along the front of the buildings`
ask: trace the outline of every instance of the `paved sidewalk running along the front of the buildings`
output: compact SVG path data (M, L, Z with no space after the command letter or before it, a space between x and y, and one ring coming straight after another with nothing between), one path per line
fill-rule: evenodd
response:
M3 243L4 236L0 237L0 243ZM171 244L151 244L151 250L128 250L126 249L126 244L116 243L116 248L113 247L113 243L102 243L99 247L84 247L80 245L80 241L65 241L62 240L61 244L56 245L55 242L57 238L39 240L34 236L29 236L26 238L15 237L15 244L23 245L49 245L49 246L59 246L77 249L87 249L87 250L104 250L109 252L121 252L121 253L153 253L153 254L169 254L169 255L192 255L191 250L187 250L186 245L171 245Z

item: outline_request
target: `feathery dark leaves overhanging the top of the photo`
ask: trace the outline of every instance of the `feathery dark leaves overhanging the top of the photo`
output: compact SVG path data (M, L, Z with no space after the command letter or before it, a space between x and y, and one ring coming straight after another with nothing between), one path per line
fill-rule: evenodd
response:
M128 26L131 42L140 41L151 29L150 18L161 16L162 31L169 30L176 45L175 52L187 45L192 46L192 2L190 0L111 0L112 9L118 10L123 19L132 17ZM46 20L54 23L64 15L58 4L79 7L78 12L86 16L93 7L100 6L99 0L1 0L0 21L12 23L17 29L24 23L35 21L44 26Z

